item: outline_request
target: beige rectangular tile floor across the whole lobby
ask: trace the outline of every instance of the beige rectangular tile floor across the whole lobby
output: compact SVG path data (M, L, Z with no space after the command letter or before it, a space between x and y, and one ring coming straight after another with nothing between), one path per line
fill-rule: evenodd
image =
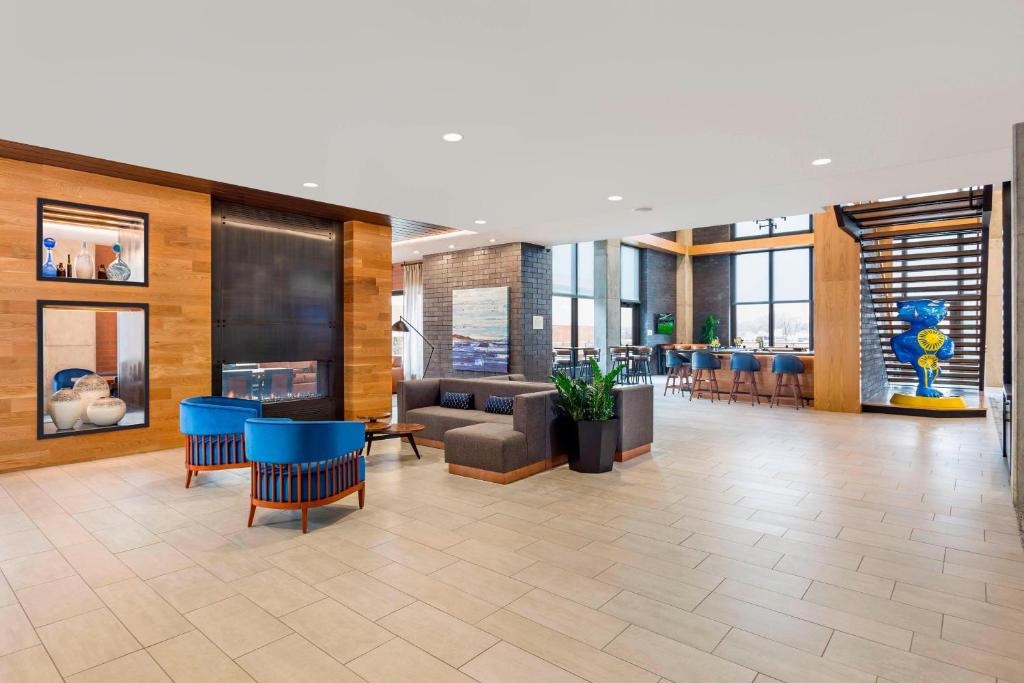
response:
M180 450L2 475L0 681L1024 681L990 421L655 415L508 486L382 442L307 536Z

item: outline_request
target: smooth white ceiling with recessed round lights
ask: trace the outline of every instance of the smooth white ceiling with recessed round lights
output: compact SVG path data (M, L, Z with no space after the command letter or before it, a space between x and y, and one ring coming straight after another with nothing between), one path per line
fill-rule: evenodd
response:
M8 3L0 138L480 233L423 253L999 181L1024 121L1020 0L150 4Z

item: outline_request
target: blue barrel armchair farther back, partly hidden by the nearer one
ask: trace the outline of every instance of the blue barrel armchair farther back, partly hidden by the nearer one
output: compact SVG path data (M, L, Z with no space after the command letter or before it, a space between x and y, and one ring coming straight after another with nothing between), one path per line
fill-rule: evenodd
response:
M262 415L258 400L193 396L179 404L178 424L185 435L185 488L204 470L245 467L245 424Z

